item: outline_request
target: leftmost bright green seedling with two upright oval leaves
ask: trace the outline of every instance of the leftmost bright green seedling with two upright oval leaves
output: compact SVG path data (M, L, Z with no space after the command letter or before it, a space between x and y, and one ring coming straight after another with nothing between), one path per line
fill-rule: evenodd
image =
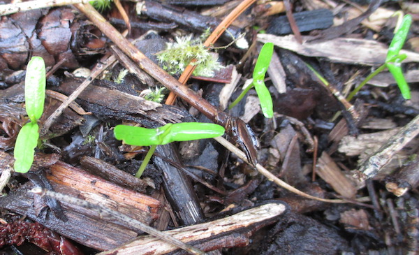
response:
M38 119L45 102L45 63L42 57L32 57L24 81L24 100L31 122L20 129L15 143L15 171L27 173L34 163L34 150L38 144Z

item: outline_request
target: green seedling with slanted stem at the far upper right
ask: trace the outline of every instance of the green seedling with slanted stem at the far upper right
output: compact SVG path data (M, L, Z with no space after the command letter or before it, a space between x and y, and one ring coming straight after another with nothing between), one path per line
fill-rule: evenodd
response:
M400 50L402 50L404 42L406 41L407 34L409 33L409 29L412 23L412 16L411 15L404 15L402 24L400 24L399 29L396 31L395 36L392 38L390 43L390 47L388 48L387 57L385 58L385 63L378 67L376 71L371 73L370 75L365 78L364 81L358 85L353 92L349 94L346 100L350 101L356 93L360 91L364 85L367 84L369 80L371 80L375 75L381 73L385 68L388 68L388 71L392 74L393 78L397 85L399 86L400 92L402 92L402 96L404 99L411 99L411 92L409 89L409 85L407 85L406 79L404 79L403 71L402 71L402 61L406 59L406 54L399 54Z

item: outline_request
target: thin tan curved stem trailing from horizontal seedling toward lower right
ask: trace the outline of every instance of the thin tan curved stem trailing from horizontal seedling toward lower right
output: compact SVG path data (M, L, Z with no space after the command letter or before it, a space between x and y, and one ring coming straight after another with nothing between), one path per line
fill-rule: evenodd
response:
M214 138L214 140L216 140L217 142L219 142L221 145L223 145L224 147L226 147L228 150L230 150L230 152L233 152L234 154L236 154L240 159L242 159L243 161L249 163L247 161L247 157L244 154L244 152L242 152L241 150L237 149L237 147L235 147L232 143L228 142L228 140L222 138L221 136ZM304 192L300 191L299 189L295 189L294 187L292 187L290 184L284 182L283 180L279 179L278 177L276 177L275 175L273 175L272 173L270 173L270 171L266 170L266 168L264 168L263 166L261 166L259 163L256 164L256 169L259 171L260 174L262 174L263 176L267 177L269 180L272 180L272 182L278 184L280 187L283 187L284 189L287 189L288 191L291 191L297 195L303 196L304 198L309 198L309 199L314 199L317 201L321 201L321 202L326 202L326 203L351 203L350 200L343 200L343 199L325 199L325 198L318 198L316 196L311 196L309 194L305 194ZM358 198L357 201L367 201L364 198Z

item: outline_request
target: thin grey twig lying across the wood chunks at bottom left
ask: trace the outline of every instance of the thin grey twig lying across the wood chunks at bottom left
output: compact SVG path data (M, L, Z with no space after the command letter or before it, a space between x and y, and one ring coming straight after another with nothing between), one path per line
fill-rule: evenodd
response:
M186 243L179 241L176 238L173 238L172 235L168 235L166 233L158 231L152 228L151 226L147 226L141 221L128 217L125 214L122 214L120 212L111 210L108 207L105 207L103 205L96 205L94 203L90 203L80 198L75 198L73 196L68 196L65 194L58 193L58 192L49 191L47 189L42 189L41 187L35 187L34 189L31 189L29 192L38 194L40 196L49 196L51 198L57 199L58 201L64 201L66 203L79 205L81 207L93 210L102 219L108 219L114 222L116 220L117 222L115 222L115 224L123 224L122 226L128 225L140 231L144 231L145 233L149 235L153 235L156 238L160 238L161 240L165 240L166 242L169 242L170 244L175 245L176 247L179 247L180 249L184 249L186 252L189 252L191 254L199 254L199 255L205 254L205 252L201 251L200 249L196 249L195 247L192 247L191 245L187 245Z

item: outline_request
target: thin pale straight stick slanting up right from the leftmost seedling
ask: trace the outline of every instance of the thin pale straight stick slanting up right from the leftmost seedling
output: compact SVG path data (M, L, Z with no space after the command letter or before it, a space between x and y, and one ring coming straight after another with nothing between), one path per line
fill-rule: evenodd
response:
M48 129L50 129L50 126L54 123L55 119L57 119L57 117L59 117L61 113L64 112L64 110L68 107L68 105L70 105L71 102L75 101L75 99L77 99L77 97L83 92L83 90L86 89L87 86L89 86L89 84L98 75L100 75L106 68L112 65L116 60L117 60L116 57L112 55L108 57L108 59L106 59L103 63L99 61L98 64L96 64L93 71L91 71L89 77L86 78L86 80L84 80L82 84L80 84L80 86L77 89L75 89L75 91L70 96L68 96L68 99L65 102L59 105L59 108L57 108L57 110L55 110L55 112L52 113L50 117L48 117L48 119L45 121L45 124L43 125L41 136L47 133Z

